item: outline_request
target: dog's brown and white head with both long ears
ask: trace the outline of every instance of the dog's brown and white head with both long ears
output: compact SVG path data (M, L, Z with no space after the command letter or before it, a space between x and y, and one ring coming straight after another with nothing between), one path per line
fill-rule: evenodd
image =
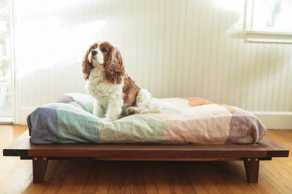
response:
M85 80L94 68L104 71L105 79L114 84L120 84L126 75L120 51L108 41L96 41L86 51L82 60Z

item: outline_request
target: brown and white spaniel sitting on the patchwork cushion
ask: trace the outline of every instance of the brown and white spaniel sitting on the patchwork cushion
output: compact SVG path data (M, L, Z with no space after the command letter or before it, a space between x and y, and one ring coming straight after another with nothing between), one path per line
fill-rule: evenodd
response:
M108 41L90 45L82 60L82 72L88 80L88 93L95 99L93 115L99 118L113 121L136 113L178 111L140 89L126 73L120 51Z

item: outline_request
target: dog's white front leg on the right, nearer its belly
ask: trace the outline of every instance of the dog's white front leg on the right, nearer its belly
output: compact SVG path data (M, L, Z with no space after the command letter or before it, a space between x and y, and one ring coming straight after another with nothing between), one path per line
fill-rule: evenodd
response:
M111 99L108 103L105 119L109 121L117 120L121 116L123 103L123 99Z

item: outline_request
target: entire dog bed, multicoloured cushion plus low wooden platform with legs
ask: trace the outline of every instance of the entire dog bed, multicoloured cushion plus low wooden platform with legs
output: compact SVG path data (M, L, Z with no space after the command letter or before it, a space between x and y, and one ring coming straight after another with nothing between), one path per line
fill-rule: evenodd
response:
M247 181L258 182L260 160L289 150L263 137L250 113L201 98L170 98L183 111L139 114L108 122L92 115L93 99L69 93L27 117L29 130L3 149L32 160L33 182L42 183L48 160L244 161ZM31 135L31 137L29 137Z

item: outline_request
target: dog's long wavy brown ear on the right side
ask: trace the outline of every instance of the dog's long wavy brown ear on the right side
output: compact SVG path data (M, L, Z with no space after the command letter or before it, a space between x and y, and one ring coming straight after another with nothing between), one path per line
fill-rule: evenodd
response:
M121 84L125 76L121 52L117 47L111 46L109 57L105 61L105 79L113 84Z

